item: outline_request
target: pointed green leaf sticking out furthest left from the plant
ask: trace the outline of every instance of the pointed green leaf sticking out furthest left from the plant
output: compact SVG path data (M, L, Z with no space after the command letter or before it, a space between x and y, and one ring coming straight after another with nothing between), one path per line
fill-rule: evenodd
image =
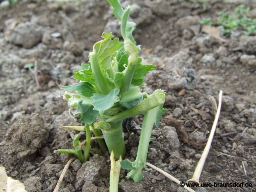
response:
M99 92L95 86L88 82L80 82L70 86L63 86L61 89L76 91L78 94L82 94L86 97L91 97L92 94Z

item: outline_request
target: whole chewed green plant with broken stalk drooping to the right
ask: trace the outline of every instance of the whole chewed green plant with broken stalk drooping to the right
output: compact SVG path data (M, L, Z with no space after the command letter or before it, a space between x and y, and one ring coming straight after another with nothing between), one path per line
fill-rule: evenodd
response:
M63 98L68 101L70 109L76 109L73 114L78 115L86 126L102 131L108 150L113 151L116 160L126 154L122 121L145 113L136 161L121 162L123 168L131 169L128 177L138 182L143 178L141 169L146 163L152 127L154 124L158 126L166 112L163 109L165 92L160 89L152 95L141 92L140 86L146 85L144 77L147 72L156 67L142 64L142 58L138 56L140 46L132 36L136 24L128 21L130 6L123 9L118 0L108 2L114 15L121 20L124 41L104 32L104 39L94 44L89 62L81 64L80 71L74 70L73 78L80 82L62 87L66 90Z

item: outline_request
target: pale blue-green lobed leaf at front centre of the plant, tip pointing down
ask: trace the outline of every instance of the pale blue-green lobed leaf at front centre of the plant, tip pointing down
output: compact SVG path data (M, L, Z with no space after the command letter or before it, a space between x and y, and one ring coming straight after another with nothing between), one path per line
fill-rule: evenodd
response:
M115 88L111 90L108 94L98 94L95 93L91 97L94 102L92 105L94 106L94 110L98 110L100 115L102 116L104 111L114 106L114 103L118 102L120 99L117 96L119 94L119 88Z

